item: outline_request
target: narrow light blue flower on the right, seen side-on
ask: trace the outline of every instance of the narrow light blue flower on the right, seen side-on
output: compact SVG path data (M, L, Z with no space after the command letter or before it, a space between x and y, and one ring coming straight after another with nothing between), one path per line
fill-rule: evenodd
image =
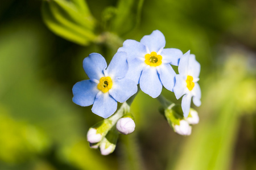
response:
M200 74L200 63L196 61L195 55L188 51L180 58L178 70L179 74L175 77L174 94L177 99L184 95L181 100L181 108L184 117L187 117L192 97L193 103L197 107L201 105L201 90L197 83Z

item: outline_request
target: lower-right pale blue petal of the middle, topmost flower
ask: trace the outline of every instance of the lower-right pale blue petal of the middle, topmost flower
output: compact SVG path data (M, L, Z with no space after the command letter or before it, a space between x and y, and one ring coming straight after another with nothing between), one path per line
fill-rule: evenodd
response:
M174 91L175 71L170 64L162 64L158 67L158 73L163 86L170 91Z

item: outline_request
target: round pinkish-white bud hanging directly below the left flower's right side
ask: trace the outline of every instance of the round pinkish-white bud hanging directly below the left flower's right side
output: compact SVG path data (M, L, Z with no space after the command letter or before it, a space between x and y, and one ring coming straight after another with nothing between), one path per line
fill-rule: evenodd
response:
M135 123L130 117L123 117L117 121L117 130L122 134L130 134L135 129Z

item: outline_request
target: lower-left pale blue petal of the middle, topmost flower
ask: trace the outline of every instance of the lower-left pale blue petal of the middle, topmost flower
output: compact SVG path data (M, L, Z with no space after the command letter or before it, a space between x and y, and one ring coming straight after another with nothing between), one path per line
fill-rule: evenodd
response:
M142 70L146 64L144 61L138 58L128 59L128 71L125 76L127 79L133 80L135 83L139 84L139 78L141 77Z

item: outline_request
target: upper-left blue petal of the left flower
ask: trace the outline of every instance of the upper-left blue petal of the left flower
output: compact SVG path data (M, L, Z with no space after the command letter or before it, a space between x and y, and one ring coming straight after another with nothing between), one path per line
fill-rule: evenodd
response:
M90 79L99 80L104 76L103 70L106 69L107 63L101 54L92 53L84 59L82 66Z

